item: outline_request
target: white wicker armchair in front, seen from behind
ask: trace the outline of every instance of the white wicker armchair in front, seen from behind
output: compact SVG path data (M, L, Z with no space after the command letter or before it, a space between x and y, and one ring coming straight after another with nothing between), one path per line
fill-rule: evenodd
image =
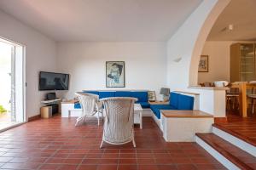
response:
M136 98L105 98L105 121L103 126L102 144L126 144L132 141L136 147L133 130L134 102ZM100 148L102 148L102 144Z

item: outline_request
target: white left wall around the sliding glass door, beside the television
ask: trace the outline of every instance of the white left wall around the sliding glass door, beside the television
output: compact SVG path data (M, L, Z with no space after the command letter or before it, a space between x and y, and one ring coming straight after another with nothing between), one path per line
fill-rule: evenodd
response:
M39 114L46 92L38 91L38 72L55 71L55 42L0 11L0 37L26 46L26 116Z

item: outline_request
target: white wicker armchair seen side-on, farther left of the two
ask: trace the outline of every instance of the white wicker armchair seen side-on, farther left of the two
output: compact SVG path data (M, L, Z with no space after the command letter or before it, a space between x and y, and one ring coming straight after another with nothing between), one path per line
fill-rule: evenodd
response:
M99 101L99 96L96 94L88 94L77 92L75 93L79 99L82 108L82 114L77 119L75 126L79 126L85 122L86 116L94 116L97 114L98 126L100 125L100 113L102 114L102 102Z

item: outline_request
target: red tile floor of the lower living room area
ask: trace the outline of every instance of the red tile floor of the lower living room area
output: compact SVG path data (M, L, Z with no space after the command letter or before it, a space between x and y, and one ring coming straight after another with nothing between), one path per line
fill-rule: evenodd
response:
M166 143L150 117L136 128L137 148L104 144L102 126L75 118L41 119L0 133L1 169L225 169L195 143Z

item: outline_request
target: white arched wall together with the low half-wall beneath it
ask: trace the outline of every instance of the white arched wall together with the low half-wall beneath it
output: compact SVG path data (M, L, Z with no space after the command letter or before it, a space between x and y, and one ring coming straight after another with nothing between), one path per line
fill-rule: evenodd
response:
M196 108L225 117L225 91L189 88L197 85L198 63L204 43L218 15L230 0L204 0L167 42L167 87L200 94Z

